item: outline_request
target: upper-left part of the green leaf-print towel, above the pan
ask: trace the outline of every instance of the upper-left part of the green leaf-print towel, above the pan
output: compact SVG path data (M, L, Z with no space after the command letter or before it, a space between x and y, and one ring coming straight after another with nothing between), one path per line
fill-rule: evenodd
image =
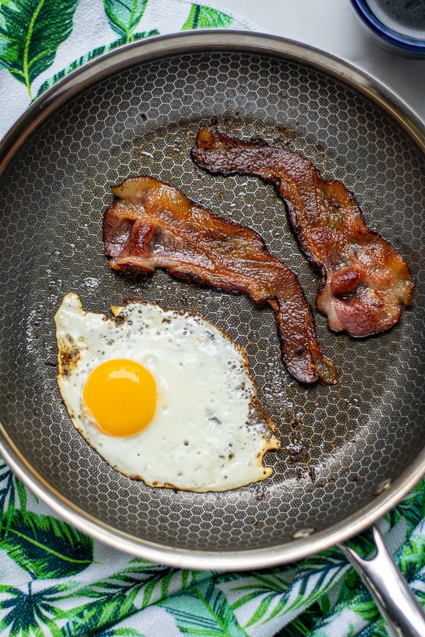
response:
M0 0L0 138L58 79L114 47L180 30L253 28L189 0Z

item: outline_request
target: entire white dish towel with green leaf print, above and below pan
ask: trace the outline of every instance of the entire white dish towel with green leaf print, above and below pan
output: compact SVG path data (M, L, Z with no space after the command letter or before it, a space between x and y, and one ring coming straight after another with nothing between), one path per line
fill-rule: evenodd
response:
M111 48L192 28L254 28L190 0L0 1L0 137L72 69ZM0 634L384 636L358 575L334 548L249 573L178 570L114 551L58 519L0 462ZM425 488L381 520L425 601ZM372 550L368 533L353 540Z

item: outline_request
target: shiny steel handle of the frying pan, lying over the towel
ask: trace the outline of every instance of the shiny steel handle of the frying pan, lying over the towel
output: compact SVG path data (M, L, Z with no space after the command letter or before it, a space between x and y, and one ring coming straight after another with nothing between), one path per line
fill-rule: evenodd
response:
M377 525L372 527L376 553L363 559L345 542L339 549L351 562L388 624L390 637L424 637L425 616L397 568Z

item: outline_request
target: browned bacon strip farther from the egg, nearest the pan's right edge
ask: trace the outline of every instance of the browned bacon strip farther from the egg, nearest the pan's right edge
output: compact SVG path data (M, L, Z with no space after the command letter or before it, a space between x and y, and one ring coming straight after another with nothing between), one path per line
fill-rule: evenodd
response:
M210 173L255 175L284 200L302 250L322 274L317 308L334 331L367 336L391 328L409 305L412 274L395 248L368 229L355 197L313 164L262 140L200 129L194 161Z

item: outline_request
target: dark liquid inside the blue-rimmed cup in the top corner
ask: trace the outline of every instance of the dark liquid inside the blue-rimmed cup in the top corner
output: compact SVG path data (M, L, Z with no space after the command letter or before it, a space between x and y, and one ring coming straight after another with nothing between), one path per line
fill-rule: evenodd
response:
M387 28L415 40L425 40L425 0L368 0L375 18Z

